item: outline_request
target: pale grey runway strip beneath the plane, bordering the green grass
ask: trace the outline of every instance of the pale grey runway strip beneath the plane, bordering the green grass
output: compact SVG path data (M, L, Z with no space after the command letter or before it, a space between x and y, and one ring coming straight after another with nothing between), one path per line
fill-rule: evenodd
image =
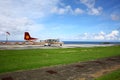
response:
M63 44L62 46L43 46L43 45L0 45L0 50L14 49L54 49L54 48L79 48L79 47L107 47L120 44Z

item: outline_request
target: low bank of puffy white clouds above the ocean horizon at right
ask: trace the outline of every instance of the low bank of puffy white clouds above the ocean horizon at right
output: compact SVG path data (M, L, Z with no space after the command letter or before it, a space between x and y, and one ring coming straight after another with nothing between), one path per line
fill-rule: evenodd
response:
M110 33L101 31L97 34L84 33L77 37L78 40L120 40L120 32L118 30L113 30Z

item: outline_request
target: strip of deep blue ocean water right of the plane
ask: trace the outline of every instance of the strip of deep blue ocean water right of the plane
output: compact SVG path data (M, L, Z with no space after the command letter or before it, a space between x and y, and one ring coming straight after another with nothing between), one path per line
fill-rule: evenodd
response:
M98 41L63 41L64 44L120 44L120 42L98 42Z

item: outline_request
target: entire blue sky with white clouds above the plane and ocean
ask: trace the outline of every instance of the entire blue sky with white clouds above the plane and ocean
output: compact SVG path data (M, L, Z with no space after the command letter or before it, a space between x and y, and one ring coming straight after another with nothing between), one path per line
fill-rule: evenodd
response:
M24 32L40 40L120 41L120 1L0 0L0 40L24 40Z

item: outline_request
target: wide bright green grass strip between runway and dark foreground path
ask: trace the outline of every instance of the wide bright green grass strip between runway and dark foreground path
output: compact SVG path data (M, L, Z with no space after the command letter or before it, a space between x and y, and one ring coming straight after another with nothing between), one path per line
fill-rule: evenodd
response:
M94 48L0 50L0 73L120 55L120 46Z

